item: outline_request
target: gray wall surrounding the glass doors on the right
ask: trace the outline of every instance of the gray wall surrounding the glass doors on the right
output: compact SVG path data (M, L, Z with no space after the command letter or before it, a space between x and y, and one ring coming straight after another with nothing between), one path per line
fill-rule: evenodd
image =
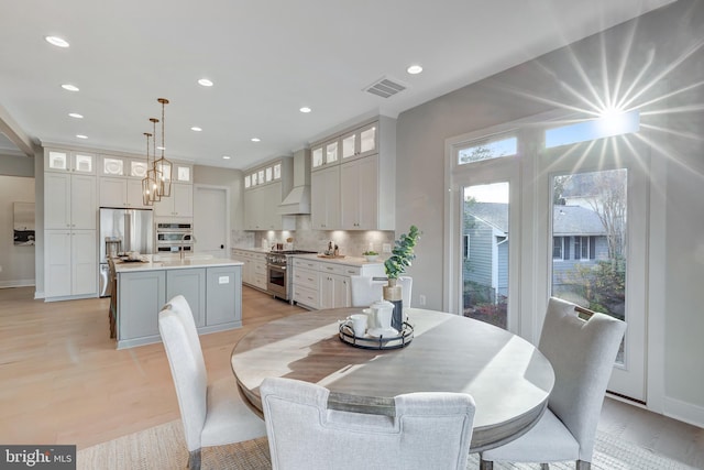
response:
M570 89L588 99L583 75L604 94L603 63L608 75L619 75L620 91L636 83L645 92L637 102L700 83L704 77L704 2L680 0L639 20L616 26L570 47L554 51L483 81L455 90L402 113L397 128L396 227L411 223L424 232L417 260L409 274L414 294L425 294L428 308L441 308L447 286L443 278L444 141L472 131L534 116L553 108L551 102L583 107ZM575 61L576 59L576 61ZM581 64L582 69L575 67ZM642 76L637 78L639 74ZM652 86L650 86L652 84ZM609 91L614 92L613 84ZM667 174L652 175L664 190L664 285L649 285L649 296L663 298L664 345L650 345L658 353L649 361L661 363L664 376L649 380L664 387L664 411L704 424L704 87L668 96L641 109L651 157ZM692 106L694 105L694 106ZM698 105L698 109L696 106ZM684 106L675 113L648 114ZM402 183L403 182L403 183ZM662 187L664 182L664 187ZM651 277L652 278L652 277ZM652 327L652 325L651 325ZM662 331L651 331L661 335ZM662 356L662 357L661 357Z

